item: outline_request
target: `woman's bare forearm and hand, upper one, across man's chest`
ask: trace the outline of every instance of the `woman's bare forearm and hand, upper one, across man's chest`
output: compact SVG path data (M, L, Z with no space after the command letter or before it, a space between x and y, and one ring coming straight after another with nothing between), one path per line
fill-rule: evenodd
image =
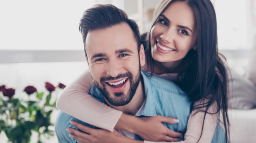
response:
M178 119L161 115L137 118L122 114L115 128L135 133L146 141L180 141L182 134L168 129L162 122L176 124Z

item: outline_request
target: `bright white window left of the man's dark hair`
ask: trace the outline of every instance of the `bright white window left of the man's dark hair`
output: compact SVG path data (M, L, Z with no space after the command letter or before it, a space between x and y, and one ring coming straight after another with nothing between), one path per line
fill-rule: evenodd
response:
M0 2L0 50L78 50L79 20L94 0Z

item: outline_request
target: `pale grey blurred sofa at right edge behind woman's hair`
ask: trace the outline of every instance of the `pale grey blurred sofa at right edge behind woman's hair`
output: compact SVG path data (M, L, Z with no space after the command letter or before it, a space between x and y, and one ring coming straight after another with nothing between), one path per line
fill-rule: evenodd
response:
M256 35L255 38L256 40ZM245 77L231 72L230 143L256 143L256 42ZM231 77L230 77L231 78Z

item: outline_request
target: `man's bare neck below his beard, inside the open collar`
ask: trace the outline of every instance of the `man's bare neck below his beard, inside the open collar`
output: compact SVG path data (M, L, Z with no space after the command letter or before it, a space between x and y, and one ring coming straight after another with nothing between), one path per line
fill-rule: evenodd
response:
M145 98L146 96L145 96L143 78L141 76L140 83L133 96L133 99L130 101L129 104L125 106L112 106L108 102L107 104L116 110L122 111L123 113L129 114L129 115L135 115L139 111L140 107L142 106Z

